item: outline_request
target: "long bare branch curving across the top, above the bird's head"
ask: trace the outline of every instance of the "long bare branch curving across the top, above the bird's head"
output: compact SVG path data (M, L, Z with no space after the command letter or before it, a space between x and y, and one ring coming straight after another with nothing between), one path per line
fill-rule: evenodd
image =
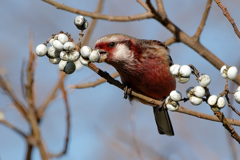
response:
M142 19L147 19L147 18L152 18L153 14L150 12L145 12L137 15L131 15L131 16L111 16L111 15L103 15L103 14L97 14L97 13L92 13L92 12L87 12L83 10L78 10L76 8L72 8L69 6L66 6L64 4L58 3L53 0L43 0L46 3L49 3L53 6L55 6L57 9L65 10L71 13L76 13L76 14L81 14L85 15L91 18L96 18L96 19L103 19L103 20L108 20L108 21L120 21L120 22L126 22L126 21L136 21L136 20L142 20Z

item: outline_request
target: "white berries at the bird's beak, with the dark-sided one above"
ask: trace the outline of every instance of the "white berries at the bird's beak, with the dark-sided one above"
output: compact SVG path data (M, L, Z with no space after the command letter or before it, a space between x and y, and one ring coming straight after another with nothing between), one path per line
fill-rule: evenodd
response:
M87 29L88 21L79 15L74 19L75 26L83 32ZM50 47L47 48L47 43ZM88 65L89 61L97 62L100 59L98 50L92 50L88 46L76 45L71 36L60 32L53 35L46 44L39 44L36 47L36 54L40 57L47 56L53 64L58 64L60 71L72 74L76 68L81 68L81 64ZM81 53L81 54L80 54Z

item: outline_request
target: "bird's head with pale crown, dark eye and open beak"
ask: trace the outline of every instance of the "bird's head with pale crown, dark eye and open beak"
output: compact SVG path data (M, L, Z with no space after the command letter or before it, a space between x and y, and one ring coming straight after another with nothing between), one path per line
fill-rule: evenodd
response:
M133 48L136 38L124 34L109 34L99 38L95 48L99 49L100 62L109 64L128 62L134 58Z

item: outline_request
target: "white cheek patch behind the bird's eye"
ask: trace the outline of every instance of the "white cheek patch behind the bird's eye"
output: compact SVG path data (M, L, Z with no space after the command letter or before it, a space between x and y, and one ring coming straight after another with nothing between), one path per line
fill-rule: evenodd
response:
M113 61L132 61L134 54L124 44L117 44L114 54L112 55Z

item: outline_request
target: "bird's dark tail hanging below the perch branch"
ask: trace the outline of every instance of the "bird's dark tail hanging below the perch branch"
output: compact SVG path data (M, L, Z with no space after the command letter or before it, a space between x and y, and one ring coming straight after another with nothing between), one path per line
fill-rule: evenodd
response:
M168 115L168 111L164 107L153 107L153 113L158 127L159 134L174 135L172 123Z

